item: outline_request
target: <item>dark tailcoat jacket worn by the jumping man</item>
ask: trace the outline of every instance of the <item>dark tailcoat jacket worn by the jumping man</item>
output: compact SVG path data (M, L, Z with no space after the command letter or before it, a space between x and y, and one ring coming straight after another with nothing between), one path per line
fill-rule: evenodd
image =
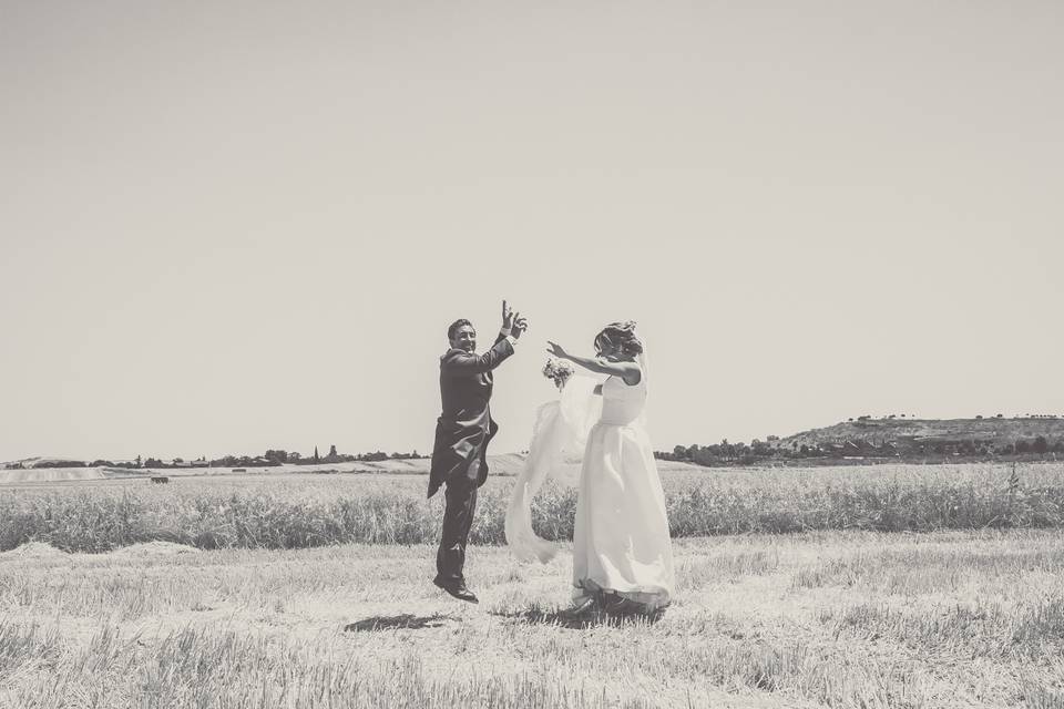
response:
M488 441L499 425L491 419L491 370L513 354L502 333L483 354L450 349L440 358L443 413L436 423L429 497L448 480L463 476L483 485L488 480Z

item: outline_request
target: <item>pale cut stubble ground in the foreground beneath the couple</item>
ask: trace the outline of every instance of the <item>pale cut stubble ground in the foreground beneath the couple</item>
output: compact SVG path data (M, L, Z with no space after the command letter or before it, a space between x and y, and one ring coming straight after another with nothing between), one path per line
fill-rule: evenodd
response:
M1056 531L675 542L659 618L567 620L571 555L0 555L3 707L1064 707Z

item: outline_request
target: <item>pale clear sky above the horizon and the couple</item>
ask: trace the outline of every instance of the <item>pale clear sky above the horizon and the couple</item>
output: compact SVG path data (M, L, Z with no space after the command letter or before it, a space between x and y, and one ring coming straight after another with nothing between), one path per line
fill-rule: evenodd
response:
M0 0L0 460L431 449L446 328L656 449L1064 413L1064 3Z

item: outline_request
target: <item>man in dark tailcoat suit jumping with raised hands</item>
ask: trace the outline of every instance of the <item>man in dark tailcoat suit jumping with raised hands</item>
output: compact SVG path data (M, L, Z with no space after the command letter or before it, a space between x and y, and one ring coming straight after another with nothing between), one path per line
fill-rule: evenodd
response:
M499 430L488 408L491 370L513 354L513 346L528 327L528 321L514 315L503 300L502 329L492 348L480 356L475 352L477 330L469 320L456 320L447 329L451 347L440 358L443 412L436 424L429 473L429 497L447 483L447 508L432 583L460 600L478 603L466 587L462 567L477 489L488 480L488 442Z

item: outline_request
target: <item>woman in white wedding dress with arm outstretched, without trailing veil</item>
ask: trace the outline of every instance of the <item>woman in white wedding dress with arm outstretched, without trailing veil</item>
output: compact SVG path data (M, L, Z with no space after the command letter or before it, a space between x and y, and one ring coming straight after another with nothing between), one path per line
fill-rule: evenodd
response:
M554 342L550 352L607 374L595 389L602 414L587 433L573 534L573 610L646 612L669 603L675 585L665 496L641 415L646 402L644 348L634 322L595 338L596 358Z

